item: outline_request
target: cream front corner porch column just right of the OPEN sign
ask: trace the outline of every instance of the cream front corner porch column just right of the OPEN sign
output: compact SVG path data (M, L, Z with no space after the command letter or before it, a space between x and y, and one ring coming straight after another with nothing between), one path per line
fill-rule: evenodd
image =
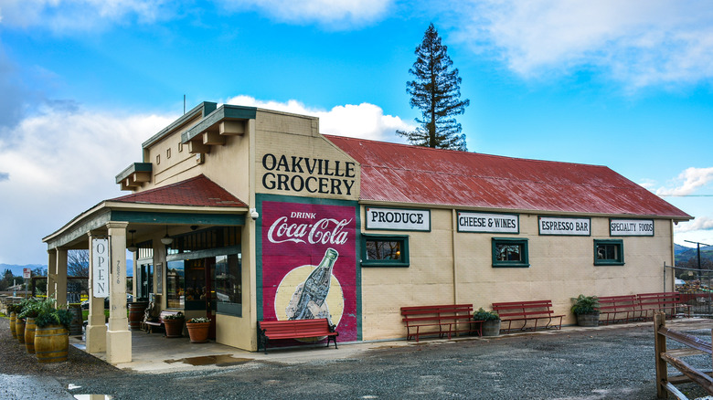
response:
M132 361L132 332L126 316L126 226L109 222L110 280L109 330L106 332L106 359L109 363Z

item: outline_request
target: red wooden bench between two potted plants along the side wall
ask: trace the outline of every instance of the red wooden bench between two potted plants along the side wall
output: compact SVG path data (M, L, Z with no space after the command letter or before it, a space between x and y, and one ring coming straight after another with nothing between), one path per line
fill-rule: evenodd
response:
M562 329L562 318L564 315L555 315L552 311L552 300L529 300L529 301L507 301L493 303L493 311L500 315L501 323L507 322L507 328L502 331L509 333L512 331L514 321L522 322L520 331L529 329L537 331L537 328L557 328ZM552 324L553 320L559 318L559 323ZM539 321L547 320L544 325ZM534 326L527 326L528 321L535 321Z

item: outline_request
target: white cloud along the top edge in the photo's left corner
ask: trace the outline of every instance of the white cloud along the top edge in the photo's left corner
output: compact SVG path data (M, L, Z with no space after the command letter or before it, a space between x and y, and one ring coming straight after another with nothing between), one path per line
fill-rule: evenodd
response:
M0 25L41 26L54 32L101 30L135 18L151 23L172 15L169 0L0 0ZM176 5L177 6L177 5Z

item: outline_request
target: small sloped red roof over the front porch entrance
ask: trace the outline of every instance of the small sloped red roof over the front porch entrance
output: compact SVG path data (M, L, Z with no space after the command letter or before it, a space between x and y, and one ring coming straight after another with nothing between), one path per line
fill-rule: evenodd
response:
M122 195L109 201L150 205L248 206L203 174L176 184L166 184L132 195Z

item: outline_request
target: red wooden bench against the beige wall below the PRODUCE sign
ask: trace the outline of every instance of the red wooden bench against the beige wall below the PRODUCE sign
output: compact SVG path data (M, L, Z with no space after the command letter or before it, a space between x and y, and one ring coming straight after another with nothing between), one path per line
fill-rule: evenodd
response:
M443 304L401 307L406 322L406 340L419 342L421 335L438 335L451 339L453 333L477 332L482 335L482 322L472 321L472 304ZM471 323L474 322L474 323Z

